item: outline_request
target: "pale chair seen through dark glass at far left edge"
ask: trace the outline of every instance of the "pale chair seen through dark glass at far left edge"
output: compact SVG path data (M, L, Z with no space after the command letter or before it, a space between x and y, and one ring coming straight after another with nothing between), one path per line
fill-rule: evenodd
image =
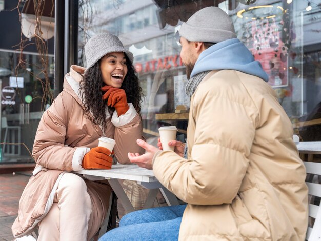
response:
M20 126L8 126L7 117L1 118L1 129L5 129L4 135L4 145L3 145L3 153L6 155L20 155L20 142L21 142L21 129ZM16 131L17 133L17 142L16 142ZM9 132L9 135L8 135ZM7 139L9 138L9 139ZM18 143L11 144L10 146L6 145L7 143ZM7 149L6 149L7 146ZM11 147L11 148L10 148ZM17 152L15 151L15 147L17 147Z

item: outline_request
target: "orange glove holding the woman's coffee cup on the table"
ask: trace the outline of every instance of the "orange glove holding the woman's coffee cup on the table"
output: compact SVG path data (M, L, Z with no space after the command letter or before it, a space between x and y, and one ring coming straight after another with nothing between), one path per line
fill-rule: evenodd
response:
M84 169L111 169L113 158L110 150L105 147L94 147L84 156L82 167Z

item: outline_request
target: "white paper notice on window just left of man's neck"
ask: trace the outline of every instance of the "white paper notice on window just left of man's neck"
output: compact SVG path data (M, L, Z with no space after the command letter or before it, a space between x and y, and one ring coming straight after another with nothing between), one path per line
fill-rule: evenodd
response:
M174 76L174 90L175 90L175 109L179 105L186 106L189 109L190 98L186 94L186 85L188 79L185 75Z

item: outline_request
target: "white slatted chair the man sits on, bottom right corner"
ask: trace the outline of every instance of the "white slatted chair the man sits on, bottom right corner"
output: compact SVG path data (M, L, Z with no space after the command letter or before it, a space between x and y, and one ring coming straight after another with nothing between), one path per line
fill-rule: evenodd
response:
M321 163L313 163L313 162L303 162L306 166L308 175L313 175L309 180L306 181L309 188L309 227L307 230L306 240L308 241L316 241L321 240L321 208L319 204L314 204L315 198L321 197L321 184L318 183L319 178L317 179L317 183L312 183L314 175L321 176ZM316 177L318 177L316 176ZM314 219L314 223L313 223Z

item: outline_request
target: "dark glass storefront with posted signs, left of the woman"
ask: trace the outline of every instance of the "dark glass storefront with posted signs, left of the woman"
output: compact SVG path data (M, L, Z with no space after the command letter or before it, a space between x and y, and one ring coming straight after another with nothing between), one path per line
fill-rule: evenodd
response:
M14 162L32 160L34 136L44 106L42 82L44 75L36 54L23 54L28 65L16 71L21 55L15 52L0 51L0 86L3 161ZM48 78L53 89L53 56L49 57ZM21 144L23 143L23 145Z

